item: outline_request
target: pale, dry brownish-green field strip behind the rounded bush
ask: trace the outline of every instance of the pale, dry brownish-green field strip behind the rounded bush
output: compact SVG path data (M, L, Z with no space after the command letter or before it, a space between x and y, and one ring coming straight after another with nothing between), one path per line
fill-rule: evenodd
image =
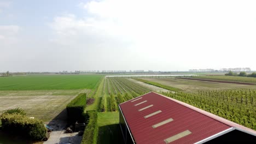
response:
M27 116L47 122L57 116L78 93L90 90L0 91L0 113L20 107Z

